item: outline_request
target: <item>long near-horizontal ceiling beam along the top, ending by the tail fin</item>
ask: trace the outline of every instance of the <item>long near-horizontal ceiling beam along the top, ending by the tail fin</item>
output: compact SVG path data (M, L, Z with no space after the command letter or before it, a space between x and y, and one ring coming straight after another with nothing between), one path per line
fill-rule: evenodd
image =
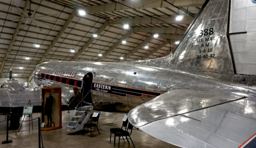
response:
M205 0L174 0L172 4L178 7L200 7L204 2ZM157 7L172 7L172 5L162 0L124 0L119 3L111 2L102 5L87 6L84 7L84 10L86 13L99 13Z

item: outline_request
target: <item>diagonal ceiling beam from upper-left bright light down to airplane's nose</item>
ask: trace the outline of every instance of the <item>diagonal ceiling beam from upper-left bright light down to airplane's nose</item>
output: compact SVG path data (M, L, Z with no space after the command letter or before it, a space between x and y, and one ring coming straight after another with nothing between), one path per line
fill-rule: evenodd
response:
M71 21L73 20L74 16L76 15L76 9L73 10L73 12L69 15L67 21L65 22L65 24L63 25L63 27L61 28L61 30L59 31L58 35L53 39L53 41L51 42L51 45L48 47L46 53L44 54L44 56L41 58L40 63L43 63L46 56L48 56L48 54L51 52L51 49L55 46L55 44L57 43L58 39L62 36L62 34L65 32L65 30L68 28L69 24L71 23Z

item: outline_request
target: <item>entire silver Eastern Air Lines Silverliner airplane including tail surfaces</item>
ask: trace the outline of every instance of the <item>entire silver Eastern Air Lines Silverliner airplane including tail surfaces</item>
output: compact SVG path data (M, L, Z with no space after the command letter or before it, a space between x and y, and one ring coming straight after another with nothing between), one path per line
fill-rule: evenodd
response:
M172 145L255 148L255 9L253 0L206 0L173 54L45 62L34 80L62 87L62 104L129 111L133 126Z

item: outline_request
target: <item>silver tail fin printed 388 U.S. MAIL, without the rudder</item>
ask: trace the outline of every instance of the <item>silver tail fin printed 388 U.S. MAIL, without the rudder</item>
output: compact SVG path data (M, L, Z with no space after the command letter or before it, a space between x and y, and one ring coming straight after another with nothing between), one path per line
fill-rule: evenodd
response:
M229 0L210 0L171 57L170 69L212 76L234 74L227 39L228 12Z

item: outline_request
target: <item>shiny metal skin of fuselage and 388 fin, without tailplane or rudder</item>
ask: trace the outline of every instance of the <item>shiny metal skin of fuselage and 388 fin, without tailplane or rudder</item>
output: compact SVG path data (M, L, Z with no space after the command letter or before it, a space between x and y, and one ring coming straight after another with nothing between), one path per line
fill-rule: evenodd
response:
M93 85L97 83L142 89L160 94L186 87L230 90L240 89L240 86L248 87L244 81L242 84L239 82L244 78L248 81L250 76L234 74L227 39L227 21L228 1L213 0L207 4L207 11L202 12L173 55L117 63L45 62L36 67L34 78L39 86L61 86L62 105L67 105L70 98L81 88L56 82L51 78L41 78L41 74L82 80L85 74L92 73ZM213 29L210 32L211 28ZM204 33L200 37L200 31L205 29L208 30L207 35ZM204 49L207 51L204 52ZM205 55L208 58L203 58ZM97 84L95 86L99 86ZM156 97L147 94L142 97L126 94L124 97L101 90L91 92L94 108L99 110L130 111ZM249 89L241 91L248 93Z

